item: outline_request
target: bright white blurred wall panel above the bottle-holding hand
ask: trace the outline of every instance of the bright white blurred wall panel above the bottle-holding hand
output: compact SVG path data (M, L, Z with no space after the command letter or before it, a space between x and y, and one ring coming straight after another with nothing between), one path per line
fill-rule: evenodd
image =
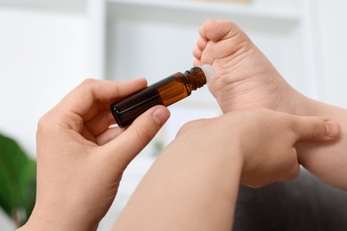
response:
M85 33L83 12L0 4L0 132L32 156L39 117L86 76Z

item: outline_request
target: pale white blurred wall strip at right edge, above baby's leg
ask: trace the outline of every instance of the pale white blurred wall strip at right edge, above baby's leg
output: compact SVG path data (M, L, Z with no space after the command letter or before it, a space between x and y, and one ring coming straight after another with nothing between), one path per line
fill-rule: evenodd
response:
M347 108L347 1L318 1L317 40L319 43L324 95L322 100Z

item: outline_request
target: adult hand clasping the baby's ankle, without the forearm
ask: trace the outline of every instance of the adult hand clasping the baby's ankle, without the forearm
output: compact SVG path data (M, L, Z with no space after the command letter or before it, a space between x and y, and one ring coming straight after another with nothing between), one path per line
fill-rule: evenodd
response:
M222 155L225 163L228 159L242 163L240 182L262 187L298 175L296 143L339 135L339 124L331 120L254 108L187 123L174 142L191 152L209 153L210 158Z

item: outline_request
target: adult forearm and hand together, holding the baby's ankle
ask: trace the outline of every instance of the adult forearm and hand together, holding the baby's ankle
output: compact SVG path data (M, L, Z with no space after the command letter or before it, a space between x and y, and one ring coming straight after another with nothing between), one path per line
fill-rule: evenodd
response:
M141 181L114 230L230 231L239 182L262 187L294 179L295 143L334 139L338 134L327 135L330 125L338 128L269 109L187 123Z

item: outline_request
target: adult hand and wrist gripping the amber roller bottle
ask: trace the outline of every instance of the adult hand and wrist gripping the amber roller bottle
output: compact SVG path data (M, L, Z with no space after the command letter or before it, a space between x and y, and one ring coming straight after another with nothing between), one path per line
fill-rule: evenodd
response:
M169 117L158 106L126 130L109 127L110 103L146 84L89 79L40 119L36 205L22 230L96 230L125 167Z

